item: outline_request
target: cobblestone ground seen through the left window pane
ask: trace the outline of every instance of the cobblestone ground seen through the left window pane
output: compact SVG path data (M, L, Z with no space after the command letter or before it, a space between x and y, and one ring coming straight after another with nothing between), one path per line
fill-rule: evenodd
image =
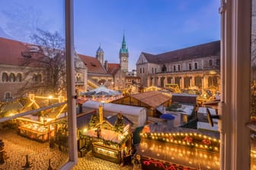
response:
M0 170L23 169L22 166L26 164L26 155L28 155L28 161L32 163L30 169L47 169L49 159L51 159L52 167L59 169L68 159L68 155L60 152L57 147L50 149L48 142L39 143L21 137L15 131L8 129L0 131L0 139L5 143L5 151L9 157L3 165L0 165Z

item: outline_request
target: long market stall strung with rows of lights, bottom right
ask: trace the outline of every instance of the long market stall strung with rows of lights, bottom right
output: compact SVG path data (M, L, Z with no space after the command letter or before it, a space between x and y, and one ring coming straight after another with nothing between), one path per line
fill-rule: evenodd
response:
M142 169L219 169L219 133L154 126L142 131L136 148Z

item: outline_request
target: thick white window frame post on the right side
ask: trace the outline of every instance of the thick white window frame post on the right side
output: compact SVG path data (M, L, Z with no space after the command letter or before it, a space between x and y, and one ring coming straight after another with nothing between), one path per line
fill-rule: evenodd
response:
M251 0L221 0L220 169L250 169Z

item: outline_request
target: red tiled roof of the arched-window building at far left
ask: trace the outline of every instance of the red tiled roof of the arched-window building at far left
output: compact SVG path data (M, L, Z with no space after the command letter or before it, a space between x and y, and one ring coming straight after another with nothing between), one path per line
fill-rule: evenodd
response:
M0 37L0 64L21 65L21 52L28 50L29 44Z

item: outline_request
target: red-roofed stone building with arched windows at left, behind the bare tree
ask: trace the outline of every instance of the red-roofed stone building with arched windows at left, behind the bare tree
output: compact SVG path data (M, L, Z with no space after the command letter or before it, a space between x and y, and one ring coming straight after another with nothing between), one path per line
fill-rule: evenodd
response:
M36 60L42 57L39 55L44 50L46 48L41 46L0 37L0 100L15 98L27 83L40 87L49 80L46 68L38 68L38 65L27 67L22 63L24 58ZM75 87L77 90L86 90L87 87L87 67L78 55L75 55ZM45 94L40 88L30 93Z

